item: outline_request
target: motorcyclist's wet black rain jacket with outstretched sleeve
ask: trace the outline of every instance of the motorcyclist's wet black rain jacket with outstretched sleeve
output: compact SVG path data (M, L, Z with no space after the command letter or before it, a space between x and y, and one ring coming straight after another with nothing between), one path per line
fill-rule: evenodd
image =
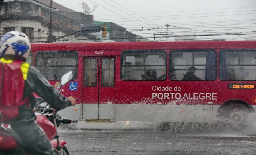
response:
M3 55L6 60L20 60L20 57L16 55ZM38 96L42 97L46 102L48 102L56 110L64 109L67 106L71 106L71 102L63 96L57 89L55 89L45 78L45 76L40 73L35 67L29 66L29 71L27 73L27 80L25 80L25 91L23 95L23 100L30 97L30 106L24 104L19 106L19 116L13 120L8 120L7 123L16 124L19 123L31 123L34 122L36 116L34 114L33 108L35 106L35 97L33 92Z

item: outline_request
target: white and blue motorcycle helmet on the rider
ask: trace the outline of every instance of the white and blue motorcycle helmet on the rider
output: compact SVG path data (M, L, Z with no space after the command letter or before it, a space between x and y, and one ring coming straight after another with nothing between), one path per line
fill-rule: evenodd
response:
M26 34L18 31L11 31L4 34L0 41L0 57L5 54L20 55L29 57L31 44Z

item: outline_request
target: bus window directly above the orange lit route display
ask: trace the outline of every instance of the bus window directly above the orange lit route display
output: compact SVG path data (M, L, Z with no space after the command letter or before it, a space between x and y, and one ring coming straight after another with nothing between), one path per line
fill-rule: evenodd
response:
M223 50L219 53L221 80L256 80L255 50Z

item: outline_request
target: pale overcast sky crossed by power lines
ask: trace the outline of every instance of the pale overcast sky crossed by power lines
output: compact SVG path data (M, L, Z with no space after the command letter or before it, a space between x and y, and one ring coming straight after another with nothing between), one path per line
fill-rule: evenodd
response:
M197 36L197 39L222 38L215 35L226 33L238 33L225 35L223 38L227 40L256 36L256 32L253 32L256 31L256 0L53 1L77 12L83 12L82 5L79 4L82 2L91 10L97 6L91 13L94 20L114 22L143 37L153 37L154 33L166 33L166 23L170 25L169 33L173 32L174 35L205 35ZM169 40L173 40L173 37Z

